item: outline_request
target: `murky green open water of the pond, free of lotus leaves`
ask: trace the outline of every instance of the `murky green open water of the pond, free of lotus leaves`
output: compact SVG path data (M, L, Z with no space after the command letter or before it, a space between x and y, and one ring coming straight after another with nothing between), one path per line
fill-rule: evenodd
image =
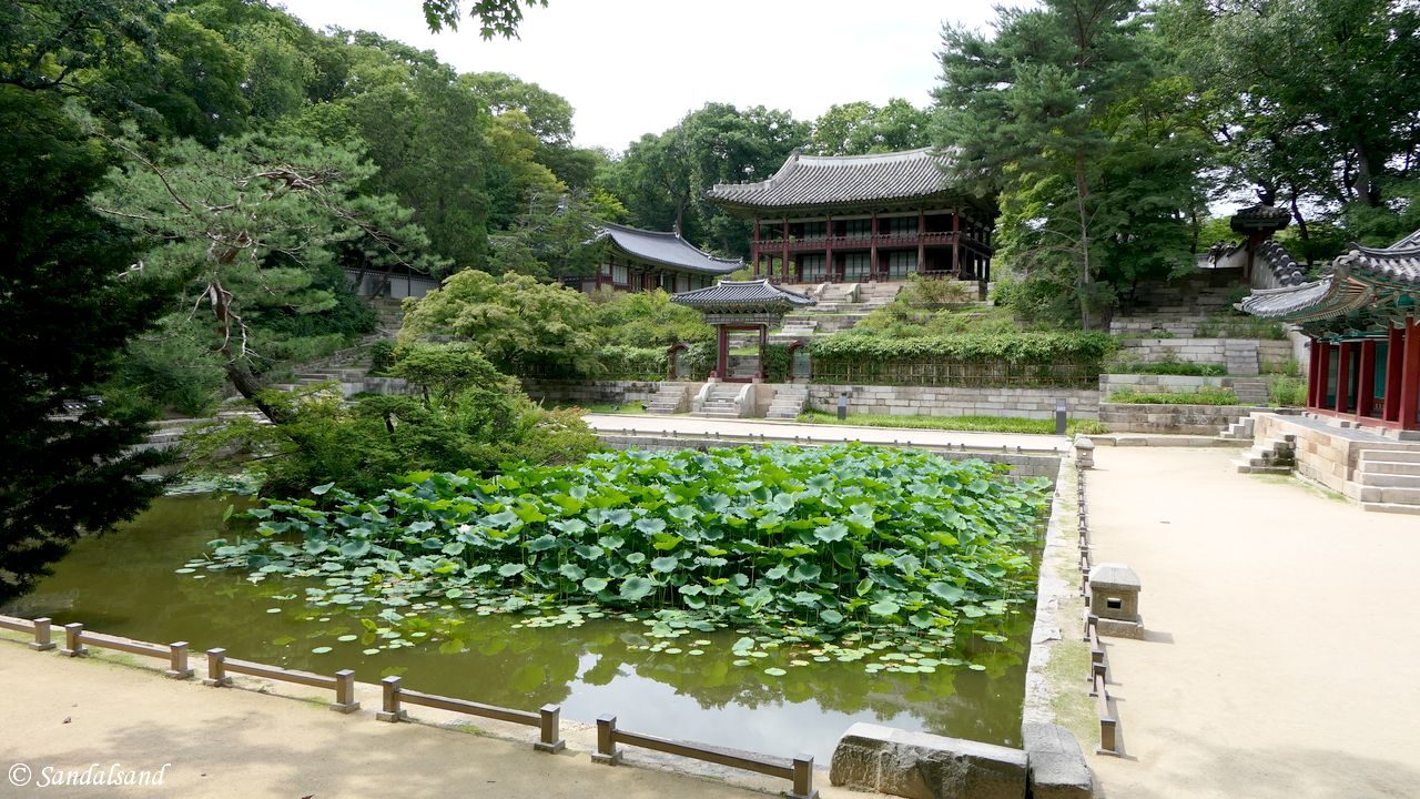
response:
M290 583L175 572L203 554L206 542L233 535L223 522L227 505L213 496L160 499L122 530L80 542L36 591L3 611L155 643L186 640L195 653L224 647L229 657L322 674L354 668L366 682L399 674L412 690L520 709L554 702L564 718L581 722L612 712L635 732L770 755L808 752L821 763L856 721L1018 744L1030 636L1030 618L1021 616L1005 631L1008 641L974 644L971 661L985 671L866 674L862 663L838 661L791 667L802 651L740 667L733 665L734 630L670 643L704 653L692 657L639 648L653 643L639 623L513 628L523 616L447 607L440 613L462 613L456 634L415 634L413 645L365 654L378 641L359 617L307 607ZM312 651L324 647L329 651ZM764 674L771 667L787 674Z

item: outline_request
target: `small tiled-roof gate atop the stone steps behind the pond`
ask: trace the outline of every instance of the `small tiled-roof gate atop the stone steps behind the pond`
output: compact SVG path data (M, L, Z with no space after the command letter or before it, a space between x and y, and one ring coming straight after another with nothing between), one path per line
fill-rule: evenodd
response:
M709 289L683 291L670 299L706 314L706 323L716 327L719 357L711 377L726 382L764 380L764 345L770 327L778 327L784 314L815 300L798 291L771 286L768 280L721 280ZM760 365L754 378L730 377L730 331L748 330L760 334Z

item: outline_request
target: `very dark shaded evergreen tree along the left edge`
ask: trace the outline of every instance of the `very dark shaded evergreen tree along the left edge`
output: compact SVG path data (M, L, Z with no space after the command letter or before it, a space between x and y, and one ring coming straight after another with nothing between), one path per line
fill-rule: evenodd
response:
M0 85L0 599L162 490L139 479L160 458L132 449L148 418L94 395L172 286L89 209L109 156L54 94Z

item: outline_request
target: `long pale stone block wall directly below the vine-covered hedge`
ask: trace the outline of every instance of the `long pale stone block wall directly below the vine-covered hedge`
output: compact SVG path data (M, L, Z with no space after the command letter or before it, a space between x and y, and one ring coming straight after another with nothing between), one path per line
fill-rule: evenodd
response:
M923 417L1055 418L1065 400L1072 419L1099 418L1099 391L1081 388L958 388L927 385L809 385L808 407L835 412L838 395L848 392L849 414Z

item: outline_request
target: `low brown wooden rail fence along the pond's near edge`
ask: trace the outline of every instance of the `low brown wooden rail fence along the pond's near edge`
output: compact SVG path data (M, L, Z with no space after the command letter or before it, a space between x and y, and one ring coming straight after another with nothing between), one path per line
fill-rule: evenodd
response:
M11 630L33 636L34 640L30 643L30 648L37 651L48 651L57 647L53 640L54 628L50 618L28 620L13 616L0 616L0 630ZM136 641L132 638L122 638L119 636L92 633L84 630L84 626L80 623L65 624L62 630L64 645L58 647L58 651L62 655L82 657L88 654L88 647L114 650L166 660L168 668L163 672L176 680L187 680L193 677L193 670L187 663L187 641L175 641L166 645L151 644L148 641ZM264 680L275 680L332 691L335 694L335 701L331 702L331 709L345 714L359 709L359 702L355 699L355 672L352 670L341 670L334 675L312 674L310 671L230 658L227 657L227 651L223 648L207 650L206 655L207 677L203 680L204 685L230 687L231 674L247 674ZM375 718L379 721L409 721L409 712L405 709L405 705L420 705L480 718L521 724L525 726L535 726L538 728L538 741L532 744L532 748L540 752L559 752L567 746L567 742L561 735L561 705L542 705L538 712L500 708L497 705L484 705L469 699L456 699L453 697L440 697L437 694L412 691L403 687L399 677L383 678L381 681L381 688L383 692L381 709L375 714ZM622 759L622 752L618 749L618 744L655 749L657 752L692 758L707 763L717 763L721 766L787 779L792 783L792 792L785 793L788 799L815 799L818 796L818 790L814 789L814 758L809 755L797 755L792 759L772 758L755 752L740 752L736 749L707 746L704 744L693 744L687 741L670 741L652 735L619 731L616 729L616 717L613 715L604 715L598 718L596 752L592 755L592 759L599 763L616 765Z

